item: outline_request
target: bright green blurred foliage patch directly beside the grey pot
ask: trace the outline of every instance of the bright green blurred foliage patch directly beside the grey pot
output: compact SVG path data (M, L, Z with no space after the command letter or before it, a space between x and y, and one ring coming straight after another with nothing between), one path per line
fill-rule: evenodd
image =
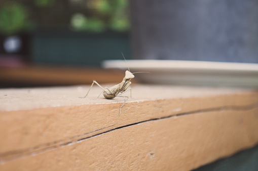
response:
M95 7L97 15L86 17L75 14L71 26L76 30L103 32L106 29L126 32L130 29L128 0L100 0Z

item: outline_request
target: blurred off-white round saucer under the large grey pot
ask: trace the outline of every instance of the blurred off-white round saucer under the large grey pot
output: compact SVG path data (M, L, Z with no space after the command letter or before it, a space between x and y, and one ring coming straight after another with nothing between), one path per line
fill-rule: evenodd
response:
M104 61L102 66L151 72L137 74L136 77L144 83L258 88L258 64L170 60L128 60L126 63L110 60Z

